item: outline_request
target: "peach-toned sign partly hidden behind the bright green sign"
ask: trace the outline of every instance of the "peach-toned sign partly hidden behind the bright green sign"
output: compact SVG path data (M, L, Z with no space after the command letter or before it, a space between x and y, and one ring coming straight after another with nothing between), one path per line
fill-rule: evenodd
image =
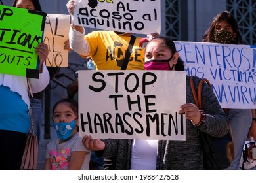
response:
M68 50L64 50L70 30L70 15L47 14L43 42L48 45L46 66L68 67Z

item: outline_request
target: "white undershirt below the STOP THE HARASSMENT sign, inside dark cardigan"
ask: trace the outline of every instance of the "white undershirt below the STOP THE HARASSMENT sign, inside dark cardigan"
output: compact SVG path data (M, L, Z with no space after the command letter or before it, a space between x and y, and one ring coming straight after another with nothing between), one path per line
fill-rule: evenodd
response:
M155 170L158 140L133 140L131 170Z

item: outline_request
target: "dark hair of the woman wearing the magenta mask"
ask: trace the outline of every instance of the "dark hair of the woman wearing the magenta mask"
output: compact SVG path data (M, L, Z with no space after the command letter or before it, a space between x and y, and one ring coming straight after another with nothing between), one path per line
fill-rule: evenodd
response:
M153 41L153 40L159 40L159 41L163 42L163 44L165 44L171 50L172 54L175 54L175 52L177 52L175 43L173 42L172 39L170 39L168 37L159 36L159 37L152 39L151 41ZM177 60L177 63L175 64L175 71L184 71L184 69L185 69L184 61L182 61L182 59L179 57Z

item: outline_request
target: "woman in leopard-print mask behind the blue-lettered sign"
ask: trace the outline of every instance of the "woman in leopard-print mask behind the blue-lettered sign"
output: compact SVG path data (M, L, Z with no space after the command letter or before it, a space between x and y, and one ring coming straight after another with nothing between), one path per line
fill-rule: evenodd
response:
M203 42L217 42L222 44L241 44L242 38L239 33L238 23L228 11L221 12L213 18L209 29L203 35ZM225 108L224 111L230 122L235 156L228 169L240 169L239 163L248 131L251 127L252 114L250 109ZM253 126L254 127L254 126ZM256 127L256 126L255 126ZM255 129L251 128L251 131Z

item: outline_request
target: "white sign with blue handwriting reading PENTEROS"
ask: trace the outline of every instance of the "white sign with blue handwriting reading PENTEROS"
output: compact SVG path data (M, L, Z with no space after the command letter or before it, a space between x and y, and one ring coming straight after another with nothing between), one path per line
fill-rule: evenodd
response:
M207 78L223 108L256 108L256 49L247 45L175 42L187 75Z

